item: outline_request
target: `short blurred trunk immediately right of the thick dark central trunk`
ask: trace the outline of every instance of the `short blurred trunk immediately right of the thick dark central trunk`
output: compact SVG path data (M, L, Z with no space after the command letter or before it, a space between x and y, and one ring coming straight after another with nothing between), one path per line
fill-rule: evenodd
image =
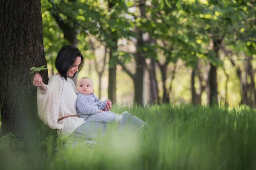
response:
M159 90L157 86L157 78L156 78L156 63L155 59L151 58L150 59L150 68L149 68L149 79L150 79L150 99L149 99L149 104L154 105L157 103L159 105Z

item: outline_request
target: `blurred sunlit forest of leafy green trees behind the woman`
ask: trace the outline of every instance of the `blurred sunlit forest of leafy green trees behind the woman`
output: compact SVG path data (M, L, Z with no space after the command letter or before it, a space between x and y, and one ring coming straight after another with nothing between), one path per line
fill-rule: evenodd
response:
M100 99L256 107L253 0L42 0L41 8L49 77L58 50L72 44L86 58L78 78L91 77Z

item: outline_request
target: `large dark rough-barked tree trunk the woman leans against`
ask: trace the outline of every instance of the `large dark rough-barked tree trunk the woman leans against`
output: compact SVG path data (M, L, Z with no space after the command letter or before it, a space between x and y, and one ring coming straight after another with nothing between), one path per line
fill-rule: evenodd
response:
M44 57L40 0L0 1L1 136L19 133L26 146L36 144L38 122L35 74L30 68L47 65ZM48 82L47 70L40 72ZM31 145L30 145L31 144Z

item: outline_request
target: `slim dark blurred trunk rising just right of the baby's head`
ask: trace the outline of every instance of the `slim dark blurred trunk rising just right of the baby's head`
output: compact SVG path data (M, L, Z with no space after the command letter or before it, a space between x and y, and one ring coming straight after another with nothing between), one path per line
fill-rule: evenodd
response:
M108 2L108 8L111 10L111 8L114 6L113 1ZM112 20L115 20L111 16ZM111 32L111 40L109 40L111 43L107 42L107 47L109 50L109 68L108 68L108 99L111 100L112 104L116 103L116 59L117 56L115 56L115 52L117 51L117 35L116 31Z

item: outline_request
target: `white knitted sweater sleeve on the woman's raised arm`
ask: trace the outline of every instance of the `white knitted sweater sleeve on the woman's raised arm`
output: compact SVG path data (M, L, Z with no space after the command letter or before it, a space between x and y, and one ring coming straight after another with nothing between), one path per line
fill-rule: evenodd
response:
M46 86L47 91L42 91L39 88L37 91L38 116L51 129L62 129L64 125L58 124L58 114L63 82L56 75L49 79Z

